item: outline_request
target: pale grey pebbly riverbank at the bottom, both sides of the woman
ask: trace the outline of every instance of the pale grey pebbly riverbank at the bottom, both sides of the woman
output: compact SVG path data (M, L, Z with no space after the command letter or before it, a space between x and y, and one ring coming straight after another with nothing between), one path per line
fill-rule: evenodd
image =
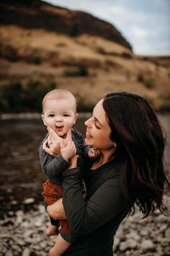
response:
M169 197L165 198L170 209ZM48 237L48 215L42 204L35 204L30 198L24 202L30 210L9 211L0 221L0 256L47 256L55 242L55 236ZM125 218L115 236L115 256L169 256L170 222L161 213L154 213L141 220L136 212Z

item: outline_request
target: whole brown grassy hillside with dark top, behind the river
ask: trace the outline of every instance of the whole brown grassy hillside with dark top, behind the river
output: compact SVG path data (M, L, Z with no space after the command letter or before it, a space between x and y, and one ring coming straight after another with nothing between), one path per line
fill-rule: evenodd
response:
M157 110L170 109L169 56L136 56L119 32L121 43L117 36L113 39L115 28L107 22L40 1L26 2L3 0L0 4L4 8L0 24L1 87L15 81L22 85L30 80L54 81L58 88L76 95L81 110L91 109L111 91L137 93L148 98ZM38 26L42 13L43 22ZM82 15L92 19L91 26ZM49 29L50 17L51 24L55 17L65 29ZM70 33L71 19L75 31L79 31L76 35ZM104 25L112 29L105 34L98 29L95 32L101 24L103 31ZM109 38L111 34L113 38Z

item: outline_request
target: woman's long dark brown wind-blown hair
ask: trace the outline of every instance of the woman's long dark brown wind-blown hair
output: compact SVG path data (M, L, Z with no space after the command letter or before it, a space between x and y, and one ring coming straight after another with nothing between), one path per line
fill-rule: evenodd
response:
M144 98L131 93L109 93L103 107L110 139L117 144L120 185L130 213L135 213L135 203L143 218L157 209L164 213L164 188L170 185L164 165L166 138L155 112Z

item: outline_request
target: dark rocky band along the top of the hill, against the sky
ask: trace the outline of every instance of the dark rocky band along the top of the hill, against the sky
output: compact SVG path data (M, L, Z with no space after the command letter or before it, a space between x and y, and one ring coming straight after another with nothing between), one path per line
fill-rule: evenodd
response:
M43 28L65 35L96 35L115 41L130 50L132 47L116 28L86 12L54 7L40 0L1 0L1 25Z

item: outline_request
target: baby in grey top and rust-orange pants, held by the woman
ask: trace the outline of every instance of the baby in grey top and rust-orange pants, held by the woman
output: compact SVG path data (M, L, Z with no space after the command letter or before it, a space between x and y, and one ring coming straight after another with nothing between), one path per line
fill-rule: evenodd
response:
M42 101L42 120L46 126L52 128L59 137L65 139L68 131L75 124L78 114L76 113L76 99L68 90L55 89L45 95ZM84 137L75 129L71 129L71 141L67 142L61 148L61 152L53 157L42 149L40 145L40 163L42 171L45 172L48 179L43 184L43 196L46 205L52 205L62 198L62 171L68 168L70 158L76 153L78 155L78 166L80 169L81 179L84 176L84 161L90 161L90 158L97 158L99 152L95 148L89 148L84 145ZM50 256L61 256L68 249L76 237L70 233L66 220L54 220L50 218L51 225L46 234L48 236L57 234L55 245L50 249ZM60 226L60 227L59 227ZM58 229L59 227L59 229Z

